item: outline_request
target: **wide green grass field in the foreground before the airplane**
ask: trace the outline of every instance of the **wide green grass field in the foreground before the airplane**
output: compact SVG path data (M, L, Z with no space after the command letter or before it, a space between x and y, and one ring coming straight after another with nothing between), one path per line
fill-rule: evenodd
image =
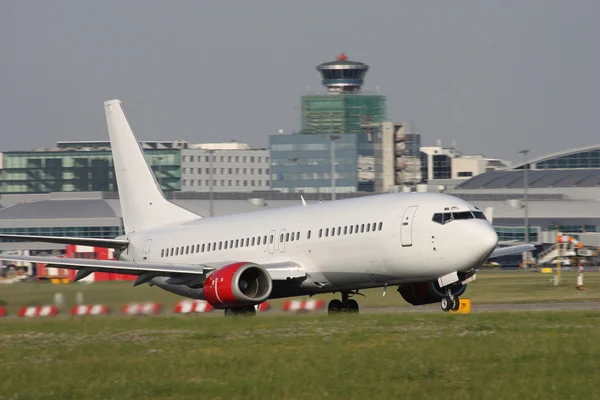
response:
M0 321L0 398L594 399L597 312Z

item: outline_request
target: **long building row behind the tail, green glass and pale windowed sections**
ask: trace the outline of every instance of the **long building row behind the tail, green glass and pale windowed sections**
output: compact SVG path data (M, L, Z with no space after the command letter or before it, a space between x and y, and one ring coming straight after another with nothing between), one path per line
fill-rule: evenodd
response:
M236 142L190 144L181 140L143 141L140 145L164 192L270 188L267 149ZM58 142L52 149L2 154L0 194L116 190L108 141Z

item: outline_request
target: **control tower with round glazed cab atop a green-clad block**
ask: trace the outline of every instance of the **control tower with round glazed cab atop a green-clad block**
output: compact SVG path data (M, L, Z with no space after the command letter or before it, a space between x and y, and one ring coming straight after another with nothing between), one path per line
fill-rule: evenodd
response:
M326 93L302 97L304 134L364 133L386 115L386 98L361 91L367 64L350 61L341 53L317 66Z

